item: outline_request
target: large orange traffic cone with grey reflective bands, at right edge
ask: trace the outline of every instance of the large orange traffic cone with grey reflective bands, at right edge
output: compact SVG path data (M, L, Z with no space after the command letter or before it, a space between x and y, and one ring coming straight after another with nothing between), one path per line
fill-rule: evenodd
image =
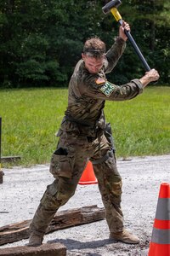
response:
M170 183L161 183L148 255L170 255Z

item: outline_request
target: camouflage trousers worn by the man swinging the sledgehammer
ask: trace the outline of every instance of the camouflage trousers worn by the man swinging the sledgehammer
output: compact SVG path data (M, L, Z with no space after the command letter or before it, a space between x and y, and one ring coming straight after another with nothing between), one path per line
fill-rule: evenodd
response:
M55 212L74 195L88 160L94 161L94 173L109 230L122 231L122 178L117 172L115 154L111 152L104 132L99 132L97 137L85 137L63 131L49 169L54 175L54 182L48 185L42 196L30 225L31 232L45 233Z

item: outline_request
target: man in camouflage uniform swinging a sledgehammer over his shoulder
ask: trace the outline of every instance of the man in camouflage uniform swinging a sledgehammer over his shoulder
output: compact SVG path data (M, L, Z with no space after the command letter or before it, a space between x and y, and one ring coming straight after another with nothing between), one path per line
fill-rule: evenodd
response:
M54 175L54 183L48 185L32 219L29 246L42 244L54 214L74 195L88 160L93 162L98 179L110 238L139 243L139 238L124 228L122 177L116 168L111 127L105 123L104 107L105 100L133 99L147 84L159 79L159 74L152 69L141 79L120 86L107 81L105 73L111 72L125 49L127 37L124 28L130 30L123 22L119 37L107 53L105 43L99 38L90 38L84 44L82 59L77 62L71 77L68 107L57 134L59 143L51 159L49 171Z

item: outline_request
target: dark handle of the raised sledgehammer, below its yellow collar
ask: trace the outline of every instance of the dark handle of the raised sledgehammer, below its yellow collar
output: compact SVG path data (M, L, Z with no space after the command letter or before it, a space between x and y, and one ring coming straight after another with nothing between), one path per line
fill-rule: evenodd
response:
M119 23L122 25L122 20L119 20ZM127 31L126 29L124 30L128 40L130 41L130 43L133 46L133 49L135 50L135 52L137 53L137 55L139 55L139 59L140 61L142 61L144 68L146 71L150 71L150 66L148 65L148 63L146 62L146 60L144 59L144 55L141 53L138 45L136 44L136 42L133 39L133 36L131 35L131 33L129 31Z

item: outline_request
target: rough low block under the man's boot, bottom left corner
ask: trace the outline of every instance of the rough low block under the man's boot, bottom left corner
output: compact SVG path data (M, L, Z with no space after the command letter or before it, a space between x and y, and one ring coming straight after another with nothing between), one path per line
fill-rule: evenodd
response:
M66 247L60 242L44 243L39 247L8 247L0 249L1 256L66 256Z

